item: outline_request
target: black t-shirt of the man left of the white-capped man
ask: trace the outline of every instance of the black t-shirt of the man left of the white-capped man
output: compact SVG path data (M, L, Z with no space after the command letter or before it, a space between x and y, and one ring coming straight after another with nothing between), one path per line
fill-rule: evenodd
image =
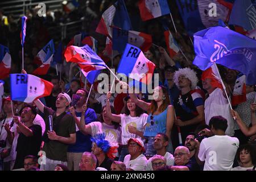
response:
M15 161L15 169L23 168L24 157L27 155L38 156L40 146L42 143L42 127L39 125L32 125L29 127L33 132L32 137L26 137L23 133L19 134L17 141L17 155Z

